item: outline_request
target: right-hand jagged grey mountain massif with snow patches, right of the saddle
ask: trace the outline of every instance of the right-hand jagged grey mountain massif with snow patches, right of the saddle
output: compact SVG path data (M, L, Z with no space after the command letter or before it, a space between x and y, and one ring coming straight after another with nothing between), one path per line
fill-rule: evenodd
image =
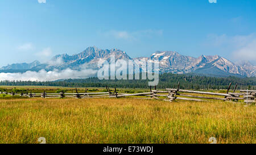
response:
M227 76L255 76L255 66L245 64L243 66L234 64L221 56L204 56L198 58L183 56L177 52L164 51L155 52L150 57L134 58L135 62L141 60L158 60L160 72L176 74L203 73Z

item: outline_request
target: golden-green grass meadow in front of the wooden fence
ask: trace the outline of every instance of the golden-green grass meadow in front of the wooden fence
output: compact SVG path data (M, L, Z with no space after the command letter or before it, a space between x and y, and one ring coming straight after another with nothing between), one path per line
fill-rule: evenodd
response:
M232 102L2 99L0 143L256 143L255 118Z

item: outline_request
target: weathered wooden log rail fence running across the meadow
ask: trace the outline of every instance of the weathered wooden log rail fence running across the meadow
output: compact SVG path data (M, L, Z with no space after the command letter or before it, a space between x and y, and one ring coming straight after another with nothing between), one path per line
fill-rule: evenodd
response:
M97 92L97 93L88 93L88 89L85 89L84 93L79 93L77 89L74 91L76 93L47 93L44 91L43 93L32 93L32 91L26 91L21 93L14 92L3 92L1 94L9 94L9 95L19 95L21 97L28 98L122 98L122 97L143 97L144 99L158 99L158 100L167 100L174 101L178 100L192 100L192 101L207 101L207 100L232 100L237 102L238 100L243 100L245 103L255 103L256 102L256 90L239 90L239 93L236 93L236 87L234 87L233 92L229 92L230 83L228 90L226 93L213 93L207 91L194 91L194 90L184 90L179 89L180 83L178 83L176 89L166 89L166 90L152 90L150 87L150 92L146 93L134 93L134 94L125 94L118 93L117 89L110 90L108 86L106 86L107 92Z

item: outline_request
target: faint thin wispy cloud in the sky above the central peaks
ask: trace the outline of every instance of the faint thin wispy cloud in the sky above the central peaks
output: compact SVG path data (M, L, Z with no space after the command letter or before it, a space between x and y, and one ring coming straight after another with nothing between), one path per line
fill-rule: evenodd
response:
M101 35L105 37L114 37L114 39L123 39L123 40L138 40L142 37L155 37L155 36L162 36L163 30L142 30L142 31L117 31L117 30L111 30L104 33L101 33Z

